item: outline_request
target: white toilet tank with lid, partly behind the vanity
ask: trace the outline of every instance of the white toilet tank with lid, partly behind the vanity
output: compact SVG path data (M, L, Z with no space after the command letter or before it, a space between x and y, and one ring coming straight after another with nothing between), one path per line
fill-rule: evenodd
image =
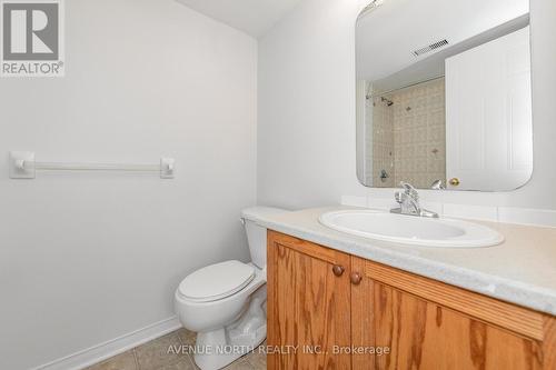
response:
M284 212L287 211L270 207L254 207L241 211L241 220L247 233L251 261L259 269L267 267L267 228L258 224L255 219Z

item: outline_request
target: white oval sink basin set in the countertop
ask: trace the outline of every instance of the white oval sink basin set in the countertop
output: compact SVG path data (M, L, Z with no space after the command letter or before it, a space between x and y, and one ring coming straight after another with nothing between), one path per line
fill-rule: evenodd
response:
M453 219L428 219L374 210L324 213L324 226L358 237L437 248L492 247L504 237L485 226Z

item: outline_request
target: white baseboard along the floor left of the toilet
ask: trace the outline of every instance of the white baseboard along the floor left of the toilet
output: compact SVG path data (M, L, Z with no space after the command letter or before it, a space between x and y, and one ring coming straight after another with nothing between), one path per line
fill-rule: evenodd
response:
M101 344L42 364L32 370L81 370L152 339L162 337L180 327L181 323L178 318L171 317Z

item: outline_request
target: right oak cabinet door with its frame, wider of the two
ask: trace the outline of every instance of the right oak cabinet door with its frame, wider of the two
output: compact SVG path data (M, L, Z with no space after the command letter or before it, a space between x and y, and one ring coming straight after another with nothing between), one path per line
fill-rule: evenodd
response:
M353 270L354 346L390 351L354 369L542 369L540 314L357 258Z

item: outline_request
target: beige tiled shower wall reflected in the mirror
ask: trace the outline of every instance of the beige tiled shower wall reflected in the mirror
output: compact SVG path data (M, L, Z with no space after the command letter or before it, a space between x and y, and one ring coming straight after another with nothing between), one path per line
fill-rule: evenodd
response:
M373 186L400 181L429 188L446 183L446 100L444 78L367 100L367 134L373 136ZM369 138L370 139L370 138ZM370 158L368 159L370 160Z

